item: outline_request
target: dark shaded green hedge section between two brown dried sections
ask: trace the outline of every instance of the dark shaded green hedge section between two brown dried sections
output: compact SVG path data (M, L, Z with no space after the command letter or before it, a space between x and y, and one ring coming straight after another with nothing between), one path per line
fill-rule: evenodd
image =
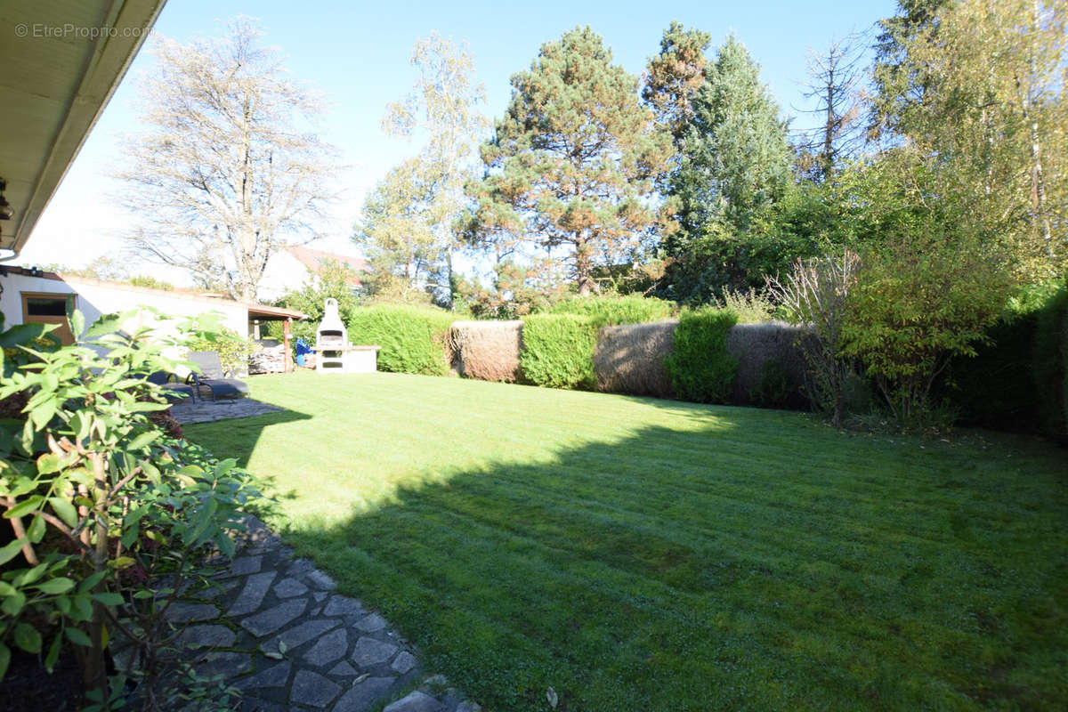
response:
M729 402L738 360L727 353L727 336L738 315L706 306L678 317L675 342L664 366L682 400Z

